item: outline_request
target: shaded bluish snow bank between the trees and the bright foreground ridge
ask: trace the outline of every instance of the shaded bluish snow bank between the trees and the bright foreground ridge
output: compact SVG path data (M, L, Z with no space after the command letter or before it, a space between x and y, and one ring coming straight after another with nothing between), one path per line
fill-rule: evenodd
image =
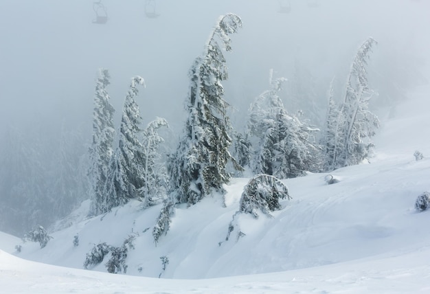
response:
M40 262L82 269L87 252L99 242L120 246L136 236L129 251L128 274L157 278L161 256L169 258L163 278L214 278L315 267L367 258L398 250L414 251L430 245L422 234L427 212L416 213L416 197L429 190L430 159L397 162L376 161L337 170L341 179L326 185L324 174L284 181L293 200L283 201L283 210L273 218L239 217L246 234L236 242L225 240L231 216L247 179L234 179L227 186L227 207L221 196L199 205L176 210L167 236L157 247L152 227L160 207L141 210L139 202L111 214L76 223L58 231L48 245L22 244L19 256ZM146 230L149 228L148 230ZM145 231L146 230L146 231ZM78 234L80 245L73 247ZM424 236L423 236L424 235ZM95 270L106 271L104 264ZM141 271L138 271L142 268Z

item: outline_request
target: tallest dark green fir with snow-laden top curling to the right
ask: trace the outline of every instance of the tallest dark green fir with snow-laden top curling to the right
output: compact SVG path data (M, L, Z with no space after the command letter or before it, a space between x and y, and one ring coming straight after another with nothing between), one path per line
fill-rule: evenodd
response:
M211 190L223 192L231 174L227 163L233 159L231 124L221 82L227 79L225 50L231 51L229 34L238 31L242 21L235 14L220 16L203 54L190 69L190 90L186 101L188 120L179 146L170 158L170 183L177 203L197 203Z

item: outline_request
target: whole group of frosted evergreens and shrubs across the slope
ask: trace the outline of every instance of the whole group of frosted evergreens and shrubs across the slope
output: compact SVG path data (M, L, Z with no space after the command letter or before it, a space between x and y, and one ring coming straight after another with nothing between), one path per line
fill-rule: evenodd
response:
M223 98L222 82L228 78L223 50L231 51L230 35L240 27L242 21L236 14L220 16L203 54L194 60L185 100L188 117L172 153L160 152L164 139L159 131L168 128L166 120L156 117L146 127L142 126L137 103L139 86L145 86L141 76L131 78L120 126L115 132L115 109L107 91L111 83L109 71L99 70L93 97L93 137L87 174L90 217L108 214L132 199L142 202L139 206L142 211L158 205L159 216L152 227L157 245L161 236L168 233L176 207L190 207L211 194L225 194L224 185L231 177L246 171L253 177L245 185L226 238L236 229L238 239L245 236L238 225L240 215L258 218L262 212L271 217L271 212L282 209L282 199L291 199L281 179L334 170L369 157L373 145L364 139L374 135L378 119L368 110L371 91L365 65L376 41L369 38L357 52L346 84L346 97L339 106L330 86L325 132L321 135L322 143L318 144L319 128L302 120L301 111L295 114L287 111L280 98L282 85L287 80L273 79L273 71L269 90L249 107L245 131L233 129L227 114L229 104ZM114 144L117 144L115 148ZM425 203L419 207L422 205ZM40 228L43 229L39 227L30 238L44 247L49 236ZM87 253L84 268L91 269L109 258L105 264L109 273L126 273L126 258L134 248L134 239L135 236L127 238L120 247L100 241ZM78 245L76 235L73 247ZM161 262L165 271L169 260L163 256Z

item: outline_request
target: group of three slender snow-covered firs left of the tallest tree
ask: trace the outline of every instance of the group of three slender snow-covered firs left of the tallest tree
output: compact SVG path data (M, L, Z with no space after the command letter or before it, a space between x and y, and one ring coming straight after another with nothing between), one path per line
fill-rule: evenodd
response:
M166 170L157 163L157 147L163 142L157 130L168 126L168 123L157 117L146 129L141 128L142 117L135 97L139 94L137 85L144 85L144 79L133 77L122 109L118 146L113 151L114 110L106 92L109 83L109 72L100 69L95 87L93 144L90 149L90 215L109 212L130 199L142 200L147 207L166 199L167 193Z

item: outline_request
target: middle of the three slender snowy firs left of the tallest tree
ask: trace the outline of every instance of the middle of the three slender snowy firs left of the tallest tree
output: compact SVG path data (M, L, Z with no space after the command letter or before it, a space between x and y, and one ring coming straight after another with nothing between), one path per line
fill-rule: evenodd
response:
M139 93L138 84L144 84L144 79L133 77L122 109L118 147L109 166L106 199L100 203L101 212L108 212L112 207L143 196L140 189L145 185L146 156L142 142L139 141L139 136L142 135L139 127L142 117L135 102L135 96Z

